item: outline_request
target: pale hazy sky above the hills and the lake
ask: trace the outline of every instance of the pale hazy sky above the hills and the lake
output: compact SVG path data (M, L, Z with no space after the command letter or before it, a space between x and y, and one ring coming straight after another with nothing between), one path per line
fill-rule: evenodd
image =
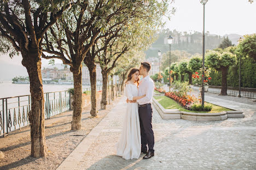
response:
M175 0L176 13L167 21L165 28L177 31L202 32L203 5L200 0ZM252 34L256 33L256 2L248 0L209 0L205 5L205 31L211 34ZM11 80L15 76L27 76L21 65L21 56L10 59L8 54L0 54L0 81ZM55 63L61 63L56 60ZM42 68L48 60L42 59Z

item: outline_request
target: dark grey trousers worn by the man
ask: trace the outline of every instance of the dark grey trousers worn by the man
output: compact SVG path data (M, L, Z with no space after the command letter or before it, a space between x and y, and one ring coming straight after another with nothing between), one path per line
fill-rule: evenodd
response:
M144 107L139 107L139 123L141 125L141 149L154 152L154 132L152 129L152 106L147 104Z

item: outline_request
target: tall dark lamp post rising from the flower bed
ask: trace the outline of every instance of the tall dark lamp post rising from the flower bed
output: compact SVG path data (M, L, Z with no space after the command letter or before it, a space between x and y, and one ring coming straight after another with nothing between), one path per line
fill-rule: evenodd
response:
M200 0L200 3L203 5L203 59L202 59L202 107L205 105L205 87L203 86L203 81L205 80L205 4L208 0Z

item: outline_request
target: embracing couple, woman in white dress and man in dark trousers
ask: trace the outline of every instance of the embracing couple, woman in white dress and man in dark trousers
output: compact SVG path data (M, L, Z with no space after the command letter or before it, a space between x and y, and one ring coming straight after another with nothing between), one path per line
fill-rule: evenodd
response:
M124 159L143 159L154 156L154 132L152 129L152 98L154 82L148 72L148 62L141 63L139 69L131 69L125 81L127 108L123 120L121 138L116 145L118 156ZM139 81L139 75L143 78Z

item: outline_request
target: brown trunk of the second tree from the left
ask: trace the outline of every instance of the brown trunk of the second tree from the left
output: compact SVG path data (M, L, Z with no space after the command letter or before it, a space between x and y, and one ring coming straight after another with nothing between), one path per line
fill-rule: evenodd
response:
M73 117L71 122L71 130L81 129L82 116L82 64L78 69L73 68L74 78L74 100L73 100Z

